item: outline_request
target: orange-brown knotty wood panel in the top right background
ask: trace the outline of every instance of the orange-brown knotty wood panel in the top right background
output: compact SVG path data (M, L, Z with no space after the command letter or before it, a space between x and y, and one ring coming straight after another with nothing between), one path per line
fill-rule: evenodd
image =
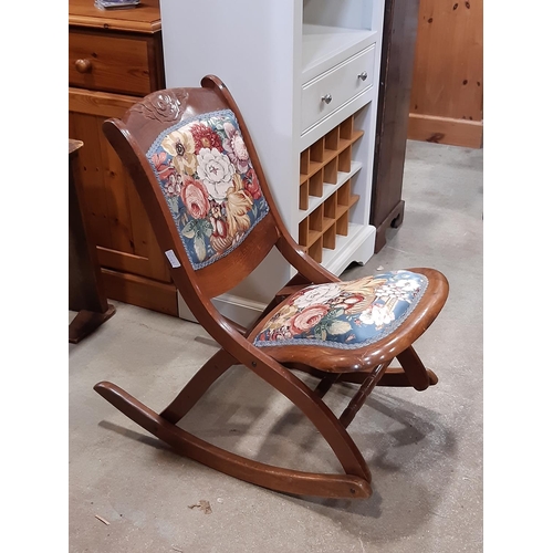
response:
M408 138L481 147L483 0L420 0Z

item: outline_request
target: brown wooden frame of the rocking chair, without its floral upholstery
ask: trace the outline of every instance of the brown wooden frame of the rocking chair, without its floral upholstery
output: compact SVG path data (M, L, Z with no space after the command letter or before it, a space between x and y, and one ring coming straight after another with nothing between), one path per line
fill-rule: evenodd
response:
M190 264L166 200L148 164L146 150L159 132L178 117L230 108L240 125L243 140L269 205L269 213L251 236L212 265L195 270ZM159 414L109 382L94 389L117 409L185 457L216 470L272 490L326 498L367 498L372 493L371 471L354 444L347 426L376 385L413 386L424 390L437 383L426 369L413 343L428 328L441 310L447 294L446 278L431 269L414 269L428 278L425 296L393 338L357 349L309 348L305 356L279 361L279 356L252 343L260 325L290 294L306 285L340 282L340 279L313 261L285 229L271 197L270 188L240 109L225 84L216 76L202 79L198 88L158 91L137 102L122 119L104 123L104 133L134 179L156 238L163 251L171 251L178 263L170 271L177 289L198 323L220 345L220 349L195 374L181 392ZM298 271L279 291L259 320L244 328L222 316L212 299L243 280L270 250L276 248ZM178 265L178 267L177 267ZM220 275L226 278L221 279ZM295 346L299 353L304 346ZM304 352L305 353L305 352ZM390 368L397 358L400 367ZM265 465L216 447L177 426L208 388L233 365L243 365L288 397L315 426L336 455L344 473L305 472ZM294 372L320 378L311 389ZM336 417L323 401L337 382L358 384L358 390L344 413Z

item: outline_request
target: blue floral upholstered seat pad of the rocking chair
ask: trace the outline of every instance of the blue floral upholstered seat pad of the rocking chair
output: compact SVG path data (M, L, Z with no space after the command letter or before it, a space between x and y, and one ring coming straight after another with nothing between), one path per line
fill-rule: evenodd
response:
M363 347L395 331L413 312L427 285L424 274L390 271L307 286L285 301L253 343L259 347Z

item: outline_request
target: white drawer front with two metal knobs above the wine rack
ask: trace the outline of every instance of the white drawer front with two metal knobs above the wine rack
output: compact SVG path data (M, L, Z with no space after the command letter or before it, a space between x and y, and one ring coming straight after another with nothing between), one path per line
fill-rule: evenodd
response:
M302 134L373 85L375 44L316 76L302 88ZM363 81L358 75L366 73ZM332 96L330 103L322 98Z

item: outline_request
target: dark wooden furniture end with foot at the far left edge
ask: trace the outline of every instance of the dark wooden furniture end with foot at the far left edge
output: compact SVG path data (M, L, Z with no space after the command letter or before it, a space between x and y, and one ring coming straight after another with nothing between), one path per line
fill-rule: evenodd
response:
M87 238L82 217L83 188L79 175L80 140L69 140L69 309L77 314L69 325L76 344L115 313L107 303L100 276L96 248Z

